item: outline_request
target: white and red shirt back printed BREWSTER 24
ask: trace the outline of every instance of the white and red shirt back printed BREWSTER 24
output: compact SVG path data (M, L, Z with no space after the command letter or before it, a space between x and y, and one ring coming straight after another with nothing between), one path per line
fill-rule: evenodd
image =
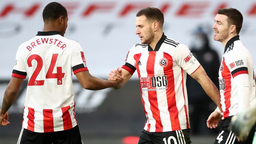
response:
M28 76L23 128L54 132L77 125L72 70L88 70L84 53L78 42L60 32L38 32L19 46L12 76Z

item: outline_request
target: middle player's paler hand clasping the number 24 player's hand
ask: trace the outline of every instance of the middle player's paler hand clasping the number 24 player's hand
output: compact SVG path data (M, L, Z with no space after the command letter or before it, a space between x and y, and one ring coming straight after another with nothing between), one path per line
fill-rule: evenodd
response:
M116 70L111 70L111 72L108 75L108 80L112 80L112 81L116 80L117 78L119 78L120 75L124 80L123 82L113 87L115 90L122 88L126 84L126 82L132 77L132 74L127 70L123 68L121 69L117 68Z

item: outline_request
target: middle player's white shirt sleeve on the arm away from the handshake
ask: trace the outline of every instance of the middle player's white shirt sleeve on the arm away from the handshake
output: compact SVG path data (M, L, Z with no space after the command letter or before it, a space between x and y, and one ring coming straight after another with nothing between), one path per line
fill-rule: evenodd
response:
M182 67L182 69L189 75L196 71L200 66L200 63L193 56L188 47L183 44L179 44L176 47L174 57L178 66Z

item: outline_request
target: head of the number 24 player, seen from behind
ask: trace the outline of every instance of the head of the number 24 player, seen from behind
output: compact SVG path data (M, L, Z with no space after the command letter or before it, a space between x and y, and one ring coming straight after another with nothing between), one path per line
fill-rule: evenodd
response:
M57 2L47 4L43 10L43 20L45 24L55 22L59 24L61 35L64 36L68 26L68 13L64 6Z

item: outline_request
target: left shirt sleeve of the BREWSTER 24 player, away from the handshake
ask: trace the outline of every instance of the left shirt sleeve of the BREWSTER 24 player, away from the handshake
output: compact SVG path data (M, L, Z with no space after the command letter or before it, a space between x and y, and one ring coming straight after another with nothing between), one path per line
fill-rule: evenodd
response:
M20 47L22 47L22 46L20 46ZM27 72L26 72L26 67L25 67L25 61L23 58L24 54L22 53L20 47L18 48L17 53L16 53L12 76L25 79L27 76Z

